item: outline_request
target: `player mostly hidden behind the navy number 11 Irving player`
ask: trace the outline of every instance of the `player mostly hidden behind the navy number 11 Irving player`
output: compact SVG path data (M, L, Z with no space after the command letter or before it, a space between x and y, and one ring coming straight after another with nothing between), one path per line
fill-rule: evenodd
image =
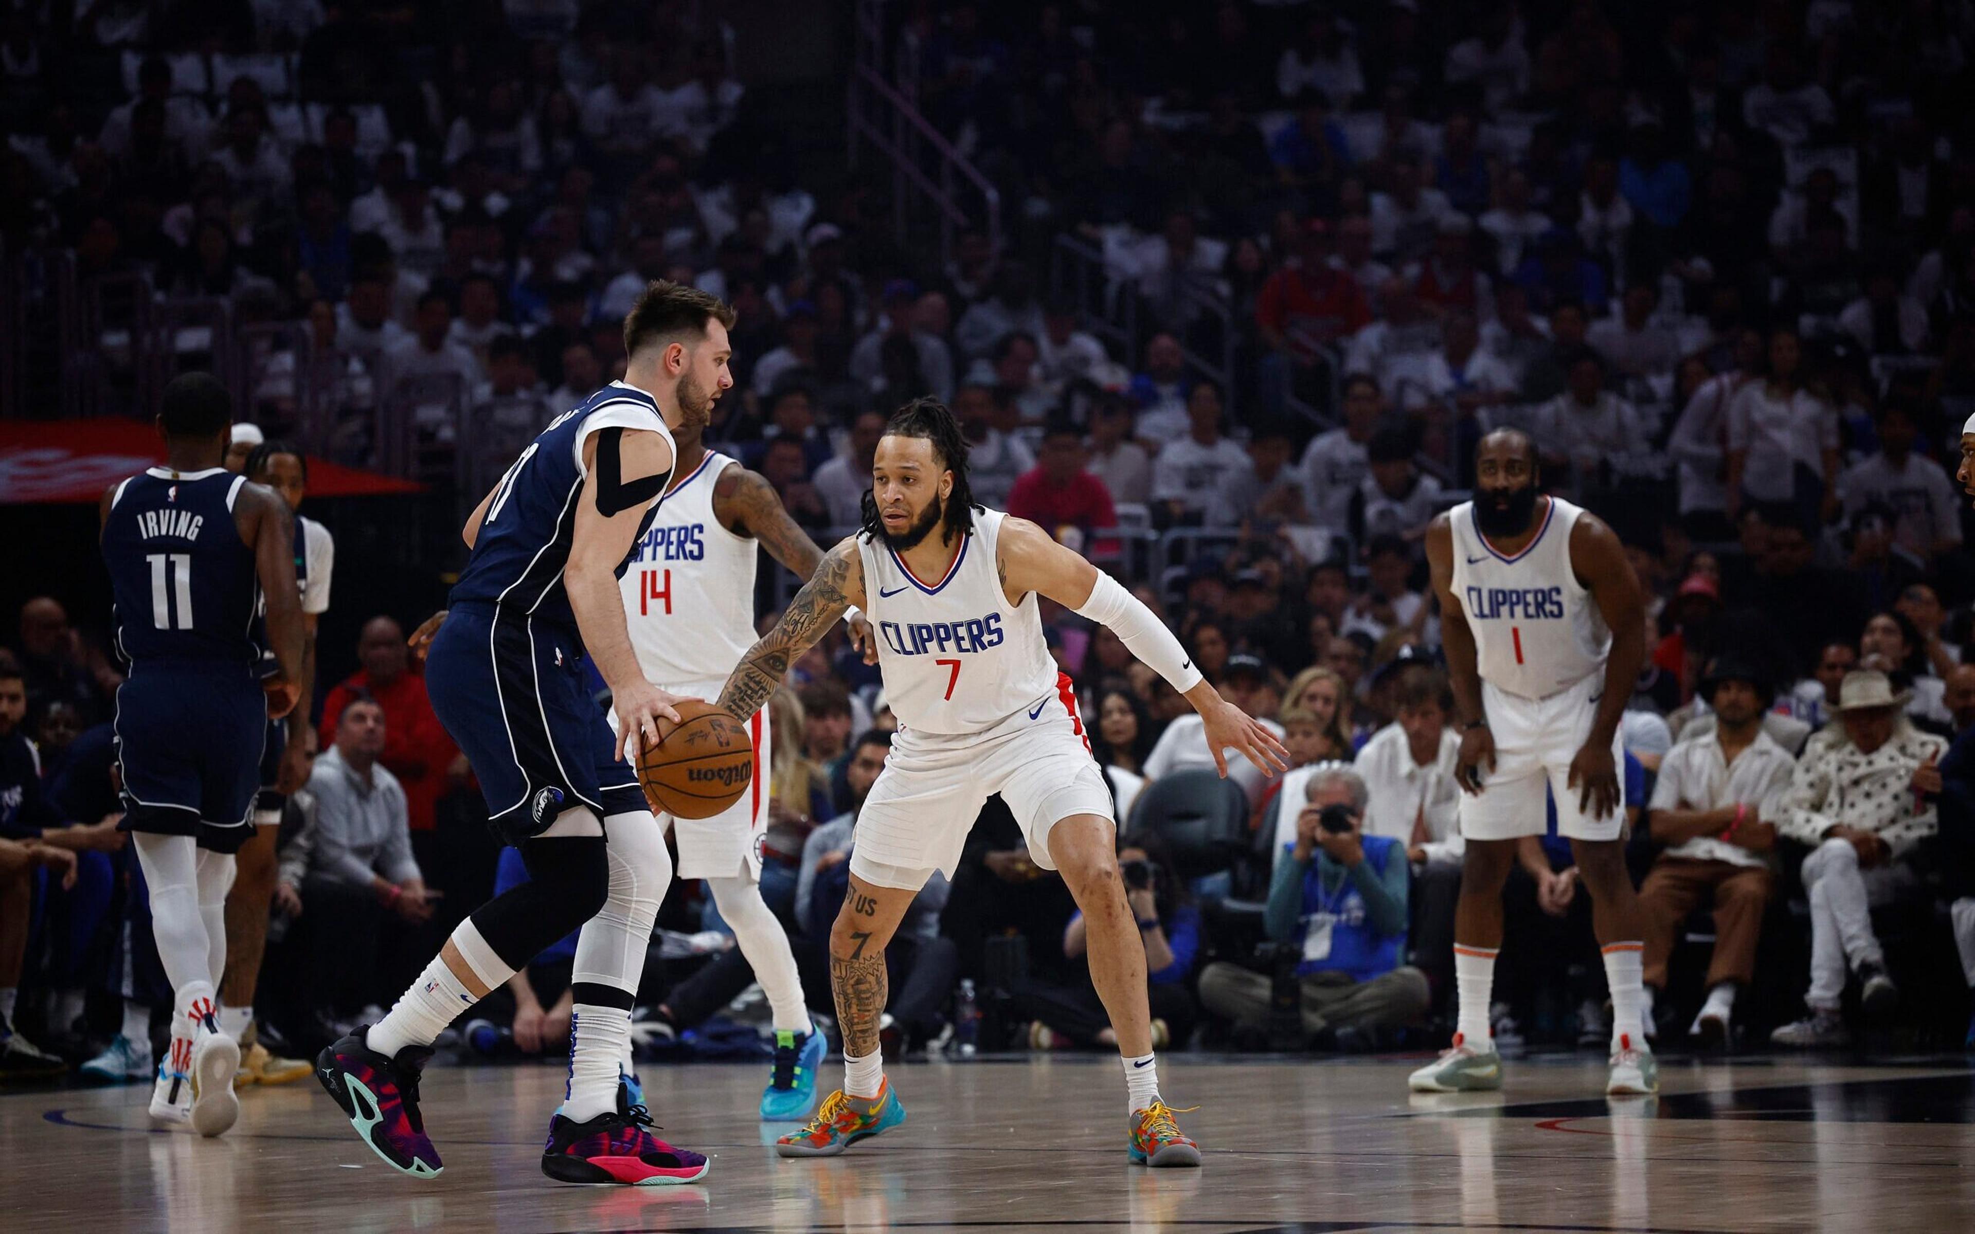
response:
M239 424L235 424L235 430ZM239 444L239 442L233 442ZM231 470L235 452L227 450ZM219 981L219 1027L241 1042L237 1084L292 1084L312 1070L300 1058L278 1058L255 1035L253 995L261 981L261 954L267 948L269 904L275 900L275 839L288 794L308 782L314 760L314 727L308 723L316 689L316 624L330 610L330 573L336 539L316 519L304 517L308 460L302 448L284 440L263 440L239 462L243 476L275 490L294 513L294 580L302 588L302 677L294 711L269 719L267 748L261 754L261 792L255 796L253 835L235 853L233 890L227 892L227 971ZM267 657L263 656L263 671Z

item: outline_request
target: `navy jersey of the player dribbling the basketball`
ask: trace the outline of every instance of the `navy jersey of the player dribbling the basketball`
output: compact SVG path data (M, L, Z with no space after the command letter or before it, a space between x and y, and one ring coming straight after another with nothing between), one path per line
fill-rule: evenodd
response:
M598 428L654 430L672 442L652 395L622 381L612 381L575 411L559 415L494 486L474 551L452 586L452 604L500 604L575 634L577 618L569 610L569 592L563 590L563 569L577 531L583 442ZM656 509L658 496L644 511L638 539L644 539ZM622 577L624 563L616 569Z

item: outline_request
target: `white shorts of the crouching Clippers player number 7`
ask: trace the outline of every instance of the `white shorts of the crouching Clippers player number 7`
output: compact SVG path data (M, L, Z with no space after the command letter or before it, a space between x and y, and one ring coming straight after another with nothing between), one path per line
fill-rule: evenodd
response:
M1112 819L1110 788L1090 756L1076 695L1053 693L984 733L899 731L871 796L857 811L851 873L875 887L918 890L932 871L948 879L989 796L1001 794L1029 857L1057 869L1049 831L1094 813Z

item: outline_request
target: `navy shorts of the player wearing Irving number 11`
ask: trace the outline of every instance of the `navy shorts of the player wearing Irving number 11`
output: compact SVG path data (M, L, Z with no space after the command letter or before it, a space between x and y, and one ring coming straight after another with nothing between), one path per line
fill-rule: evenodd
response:
M117 689L124 831L235 853L253 835L267 695L247 663L140 663Z

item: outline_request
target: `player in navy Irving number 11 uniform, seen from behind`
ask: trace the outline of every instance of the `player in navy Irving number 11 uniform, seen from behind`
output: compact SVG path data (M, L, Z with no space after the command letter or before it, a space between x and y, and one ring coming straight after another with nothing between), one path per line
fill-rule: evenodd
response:
M233 401L205 373L164 387L164 466L103 494L103 561L117 600L117 691L124 817L152 934L172 983L172 1048L152 1118L219 1135L239 1118L239 1042L217 1019L233 853L253 835L267 717L294 709L302 606L294 521L280 498L221 460ZM255 610L275 675L259 683ZM265 693L263 693L265 689Z

